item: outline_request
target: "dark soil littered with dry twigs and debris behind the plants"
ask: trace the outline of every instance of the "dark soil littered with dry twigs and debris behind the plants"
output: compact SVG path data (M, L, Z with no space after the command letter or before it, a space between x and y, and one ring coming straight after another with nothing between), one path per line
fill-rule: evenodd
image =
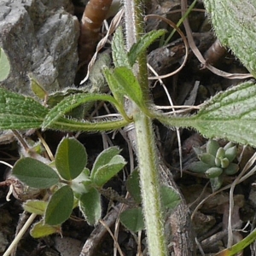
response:
M188 1L189 2L189 1ZM77 3L76 3L77 4ZM197 9L203 10L203 4L196 5ZM148 6L147 12L151 14L157 9L158 13L165 14L167 18L170 18L174 23L180 18L179 1L162 1L160 5L157 5L152 1L151 6ZM175 15L171 15L173 11ZM76 14L79 15L79 14ZM189 24L194 32L195 43L204 55L207 50L212 49L211 45L215 42L214 33L212 32L211 25L207 21L204 12L192 12L189 15ZM166 27L171 30L163 22L157 20L150 20L147 24L148 31ZM182 27L184 32L184 28ZM172 50L172 56L166 56L164 50L159 47L160 42L156 42L148 49L148 60L159 74L171 73L176 70L183 61L184 47L183 41L179 38L177 33L170 41L168 45ZM109 50L109 46L106 45ZM221 55L216 56L213 52L207 53L207 61L214 64L214 67L218 67L228 73L247 73L247 70L241 66L241 63L236 60L234 55L229 50L224 49ZM171 64L170 64L171 63ZM172 96L174 105L199 105L205 102L211 96L214 96L218 91L226 90L231 85L240 83L238 80L224 79L216 74L211 73L206 68L201 66L200 61L197 60L193 52L189 51L189 60L182 71L176 73L168 79L163 79L163 83L169 94ZM154 102L160 106L169 106L166 93L160 83L150 82L152 87L151 92L154 97ZM108 108L111 108L107 105ZM91 112L94 109L91 109ZM100 108L101 113L106 112L106 108ZM194 113L193 111L191 113ZM193 228L195 230L195 236L198 243L201 244L201 248L197 247L197 255L203 255L201 250L206 255L214 255L214 253L220 252L226 247L228 232L227 232L227 218L229 212L229 189L225 189L212 195L212 188L208 183L209 179L203 175L197 175L193 172L189 172L189 165L197 160L193 147L204 147L207 143L207 139L201 137L200 134L192 130L179 130L181 135L182 146L182 161L183 161L183 175L180 172L179 164L179 151L177 143L177 133L167 129L165 126L155 122L154 130L157 139L157 146L160 154L166 164L169 167L172 176L177 183L178 188L182 191L185 201L193 214ZM66 133L57 131L41 132L45 142L49 148L55 154L55 149L62 137L67 136ZM96 159L96 156L102 151L106 145L117 145L122 148L122 155L129 162L130 159L130 145L127 143L126 138L121 133L110 132L104 134L76 134L69 133L69 136L76 136L87 150L89 155L89 168ZM32 139L38 141L38 136L34 133L30 137L24 135L24 139ZM102 143L103 142L103 143ZM221 145L225 145L223 140L220 140ZM240 171L247 161L254 154L253 148L242 148L241 145L237 145L239 148L239 154L235 160L239 163ZM243 150L244 149L244 150ZM4 143L0 145L0 158L11 165L15 164L15 160L19 159L20 144L17 142ZM130 168L136 164L136 156L134 160L125 166L123 172L120 172L117 177L114 177L107 185L117 191L119 195L126 195L125 180L130 175ZM8 171L6 166L0 166L0 181L5 180L6 172ZM238 173L239 173L238 172ZM237 174L236 174L237 175ZM224 177L224 183L222 187L230 185L236 178L236 175L230 177ZM247 178L244 182L236 185L234 198L234 216L232 217L236 222L236 228L238 231L234 231L236 241L247 236L253 225L255 224L255 175ZM15 238L17 230L19 230L28 218L28 213L23 212L22 201L17 200L14 196L11 196L10 201L6 201L6 195L9 191L9 187L0 187L0 255L3 255L11 241ZM207 201L205 201L199 209L196 207L207 196L212 195ZM102 219L105 224L108 224L110 229L117 232L117 241L123 255L146 255L147 244L145 241L145 234L133 234L129 230L126 230L124 226L119 225L119 228L115 228L114 224L118 220L118 211L121 207L121 203L118 200L111 200L102 196ZM195 211L196 209L196 211ZM247 225L248 224L248 225ZM102 227L102 224L98 224L96 227L86 224L83 216L78 209L75 209L67 222L62 225L61 235L53 235L40 239L33 239L29 235L29 231L23 236L20 241L14 255L26 256L26 255L45 255L45 256L77 256L82 250L84 243L90 247L86 255L114 255L116 247L114 246L113 238L109 235L108 231ZM242 231L241 231L242 230ZM61 239L63 236L63 239ZM138 246L139 245L139 246ZM255 255L255 244L251 247L247 247L243 255ZM83 254L84 255L84 254ZM115 254L119 255L119 253ZM172 246L170 247L170 255L173 255Z

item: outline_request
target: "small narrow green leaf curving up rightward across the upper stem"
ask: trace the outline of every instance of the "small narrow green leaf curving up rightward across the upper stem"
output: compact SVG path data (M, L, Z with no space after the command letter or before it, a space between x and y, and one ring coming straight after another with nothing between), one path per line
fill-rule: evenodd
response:
M128 53L131 67L135 64L138 55L142 54L143 51L145 51L150 44L154 43L155 39L160 38L165 33L166 30L164 29L148 32L147 34L144 34L143 37L137 41L136 44L133 44Z

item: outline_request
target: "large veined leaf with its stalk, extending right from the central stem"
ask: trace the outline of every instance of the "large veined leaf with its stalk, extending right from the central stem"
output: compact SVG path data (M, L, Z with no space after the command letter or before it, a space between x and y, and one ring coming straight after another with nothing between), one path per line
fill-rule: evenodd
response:
M191 117L157 116L168 126L193 127L204 137L256 146L256 85L247 81L213 96Z

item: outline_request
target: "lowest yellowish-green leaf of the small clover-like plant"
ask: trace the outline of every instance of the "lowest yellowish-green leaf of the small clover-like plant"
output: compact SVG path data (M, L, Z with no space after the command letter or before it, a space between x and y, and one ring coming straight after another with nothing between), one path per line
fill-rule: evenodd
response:
M52 226L52 225L44 224L43 220L34 224L32 226L32 230L30 230L30 235L33 238L49 236L55 233L61 234L61 226L60 225Z

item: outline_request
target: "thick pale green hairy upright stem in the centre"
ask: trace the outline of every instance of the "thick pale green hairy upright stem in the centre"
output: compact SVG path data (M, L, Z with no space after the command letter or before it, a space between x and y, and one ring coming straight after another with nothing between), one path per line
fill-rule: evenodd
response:
M143 1L124 0L127 49L143 34ZM141 84L143 96L149 101L146 55L138 56L134 73ZM160 200L160 182L152 120L134 103L128 103L136 130L137 158L143 198L143 215L148 238L149 255L167 255L164 218Z

